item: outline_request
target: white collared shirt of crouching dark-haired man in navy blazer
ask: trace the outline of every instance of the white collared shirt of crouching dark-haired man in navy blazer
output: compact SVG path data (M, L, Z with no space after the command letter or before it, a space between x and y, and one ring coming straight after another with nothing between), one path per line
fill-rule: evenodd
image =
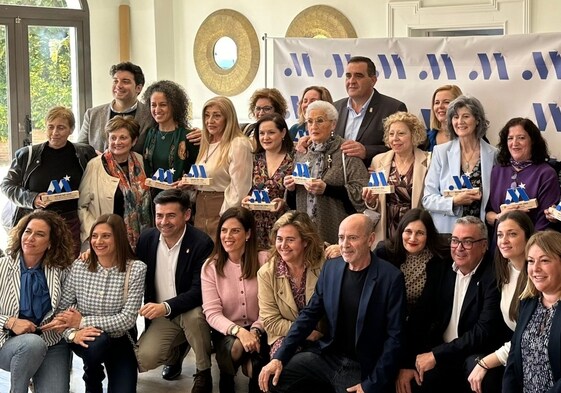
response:
M181 237L171 248L168 247L164 237L160 234L158 250L156 251L156 301L162 303L177 296L175 287L175 271L177 270L177 259L179 248L185 236L187 225L183 228Z

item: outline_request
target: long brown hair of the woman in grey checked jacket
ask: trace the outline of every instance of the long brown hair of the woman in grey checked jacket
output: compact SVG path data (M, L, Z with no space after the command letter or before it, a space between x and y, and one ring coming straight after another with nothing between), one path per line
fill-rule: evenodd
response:
M117 259L117 266L120 272L127 270L127 261L134 259L134 251L132 250L129 239L127 237L127 228L123 218L118 214L102 214L92 225L90 229L90 244L92 241L92 235L95 228L100 224L107 224L111 227L113 232L113 239L115 241L115 253ZM88 257L88 270L90 272L95 272L97 270L97 254L95 249L90 247L90 256Z

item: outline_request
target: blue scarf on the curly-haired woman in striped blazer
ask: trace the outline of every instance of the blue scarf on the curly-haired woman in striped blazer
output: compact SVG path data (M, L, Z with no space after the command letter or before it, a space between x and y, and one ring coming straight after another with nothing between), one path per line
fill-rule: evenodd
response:
M51 296L42 263L29 269L20 256L20 315L39 325L51 310Z

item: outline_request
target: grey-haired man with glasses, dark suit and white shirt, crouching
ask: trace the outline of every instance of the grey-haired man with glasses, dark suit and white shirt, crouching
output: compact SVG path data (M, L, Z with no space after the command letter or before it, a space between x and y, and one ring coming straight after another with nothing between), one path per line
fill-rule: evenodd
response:
M471 392L467 377L476 357L508 339L486 225L473 216L459 218L450 248L454 262L442 284L429 288L432 304L410 316L412 327L422 331L416 336L425 342L407 345L426 352L417 353L415 369L401 370L399 391ZM407 386L411 390L403 390Z

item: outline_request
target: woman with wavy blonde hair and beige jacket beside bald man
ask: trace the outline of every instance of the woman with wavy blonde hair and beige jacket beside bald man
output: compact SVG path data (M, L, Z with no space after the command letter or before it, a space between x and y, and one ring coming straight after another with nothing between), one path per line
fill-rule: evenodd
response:
M271 243L271 257L257 272L257 283L259 316L272 356L310 301L325 256L316 226L303 212L283 214L273 225ZM308 341L321 336L314 330Z

